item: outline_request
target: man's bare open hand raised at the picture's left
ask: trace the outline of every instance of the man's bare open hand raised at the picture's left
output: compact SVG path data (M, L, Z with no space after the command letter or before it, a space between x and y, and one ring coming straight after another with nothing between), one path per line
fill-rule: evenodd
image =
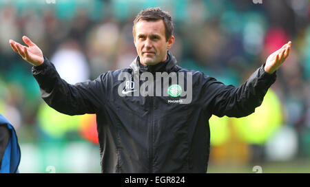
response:
M28 63L38 66L44 62L43 53L40 48L35 45L27 36L23 36L23 42L28 45L21 45L16 41L10 40L10 45L14 52L17 52Z

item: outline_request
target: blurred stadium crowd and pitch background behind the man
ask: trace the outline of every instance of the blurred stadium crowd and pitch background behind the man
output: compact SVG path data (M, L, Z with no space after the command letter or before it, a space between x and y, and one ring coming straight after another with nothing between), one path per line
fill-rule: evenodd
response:
M40 97L31 65L8 43L37 43L68 83L127 67L132 21L160 6L174 18L181 66L240 85L287 41L292 50L262 106L247 118L210 120L208 173L310 173L308 0L1 0L0 113L17 130L21 173L99 173L94 115L68 116Z

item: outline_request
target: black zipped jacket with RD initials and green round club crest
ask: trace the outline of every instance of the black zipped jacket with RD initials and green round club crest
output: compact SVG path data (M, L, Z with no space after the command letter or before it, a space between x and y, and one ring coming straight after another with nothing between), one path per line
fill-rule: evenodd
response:
M172 96L120 96L118 86L124 81L118 76L123 72L191 73L192 102L171 102L180 99ZM238 118L253 113L276 80L262 65L240 87L223 85L179 67L170 52L158 65L143 66L137 57L127 69L76 85L62 80L47 58L32 67L32 74L50 107L68 115L96 113L102 173L205 173L211 115Z

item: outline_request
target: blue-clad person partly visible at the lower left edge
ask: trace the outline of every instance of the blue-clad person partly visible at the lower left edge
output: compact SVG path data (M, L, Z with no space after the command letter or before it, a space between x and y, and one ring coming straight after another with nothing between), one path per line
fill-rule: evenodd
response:
M14 127L0 114L0 173L19 173L21 150Z

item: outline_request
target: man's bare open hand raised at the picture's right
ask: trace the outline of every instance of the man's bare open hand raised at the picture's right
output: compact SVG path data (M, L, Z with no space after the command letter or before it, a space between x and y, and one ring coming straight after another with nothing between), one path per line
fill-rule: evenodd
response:
M265 72L273 74L273 72L284 63L287 56L289 56L289 50L291 49L291 41L283 45L280 50L273 52L269 55L265 64Z

